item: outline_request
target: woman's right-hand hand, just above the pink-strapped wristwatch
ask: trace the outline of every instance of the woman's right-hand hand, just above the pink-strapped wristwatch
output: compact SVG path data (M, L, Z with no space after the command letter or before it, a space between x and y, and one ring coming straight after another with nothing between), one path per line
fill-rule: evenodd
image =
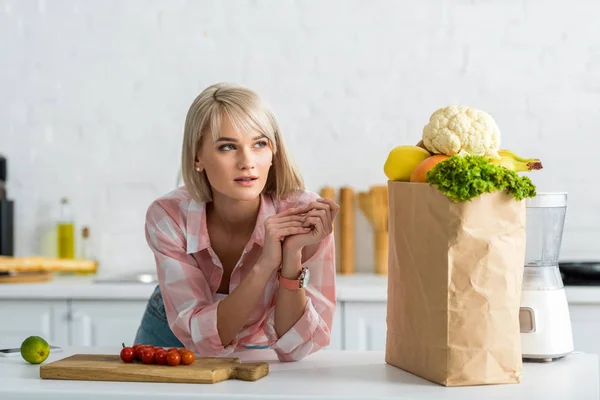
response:
M333 224L340 206L333 200L318 199L306 206L305 210L308 212L302 218L302 226L309 227L310 230L287 236L283 243L286 251L297 252L327 237L333 232Z

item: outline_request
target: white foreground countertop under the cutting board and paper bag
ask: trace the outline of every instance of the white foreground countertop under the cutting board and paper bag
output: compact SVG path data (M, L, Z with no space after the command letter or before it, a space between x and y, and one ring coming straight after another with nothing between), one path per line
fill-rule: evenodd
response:
M118 347L66 348L71 354L118 354ZM321 351L295 363L278 362L269 350L236 354L267 361L270 372L256 382L216 384L45 380L39 366L20 357L0 358L0 398L13 399L598 399L598 357L572 354L553 363L525 363L519 384L444 387L387 365L384 352ZM177 368L177 367L175 367Z

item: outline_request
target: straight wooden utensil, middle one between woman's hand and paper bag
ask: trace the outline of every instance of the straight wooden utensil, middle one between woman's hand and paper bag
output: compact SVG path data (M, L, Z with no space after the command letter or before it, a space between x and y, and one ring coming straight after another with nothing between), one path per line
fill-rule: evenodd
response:
M351 187L340 188L340 273L354 273L355 194Z

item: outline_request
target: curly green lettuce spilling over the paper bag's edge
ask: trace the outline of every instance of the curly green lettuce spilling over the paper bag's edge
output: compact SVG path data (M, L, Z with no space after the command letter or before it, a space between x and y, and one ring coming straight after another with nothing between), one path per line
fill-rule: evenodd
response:
M437 163L426 176L428 183L436 185L455 203L501 190L519 201L536 195L531 179L506 167L490 164L486 157L453 155Z

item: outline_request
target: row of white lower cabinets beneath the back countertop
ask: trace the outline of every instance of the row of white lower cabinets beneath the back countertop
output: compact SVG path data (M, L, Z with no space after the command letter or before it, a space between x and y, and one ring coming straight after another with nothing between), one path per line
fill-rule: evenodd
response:
M0 300L0 346L38 335L58 346L132 343L146 300ZM338 301L328 350L385 350L385 301ZM575 350L600 354L600 304L569 306Z

